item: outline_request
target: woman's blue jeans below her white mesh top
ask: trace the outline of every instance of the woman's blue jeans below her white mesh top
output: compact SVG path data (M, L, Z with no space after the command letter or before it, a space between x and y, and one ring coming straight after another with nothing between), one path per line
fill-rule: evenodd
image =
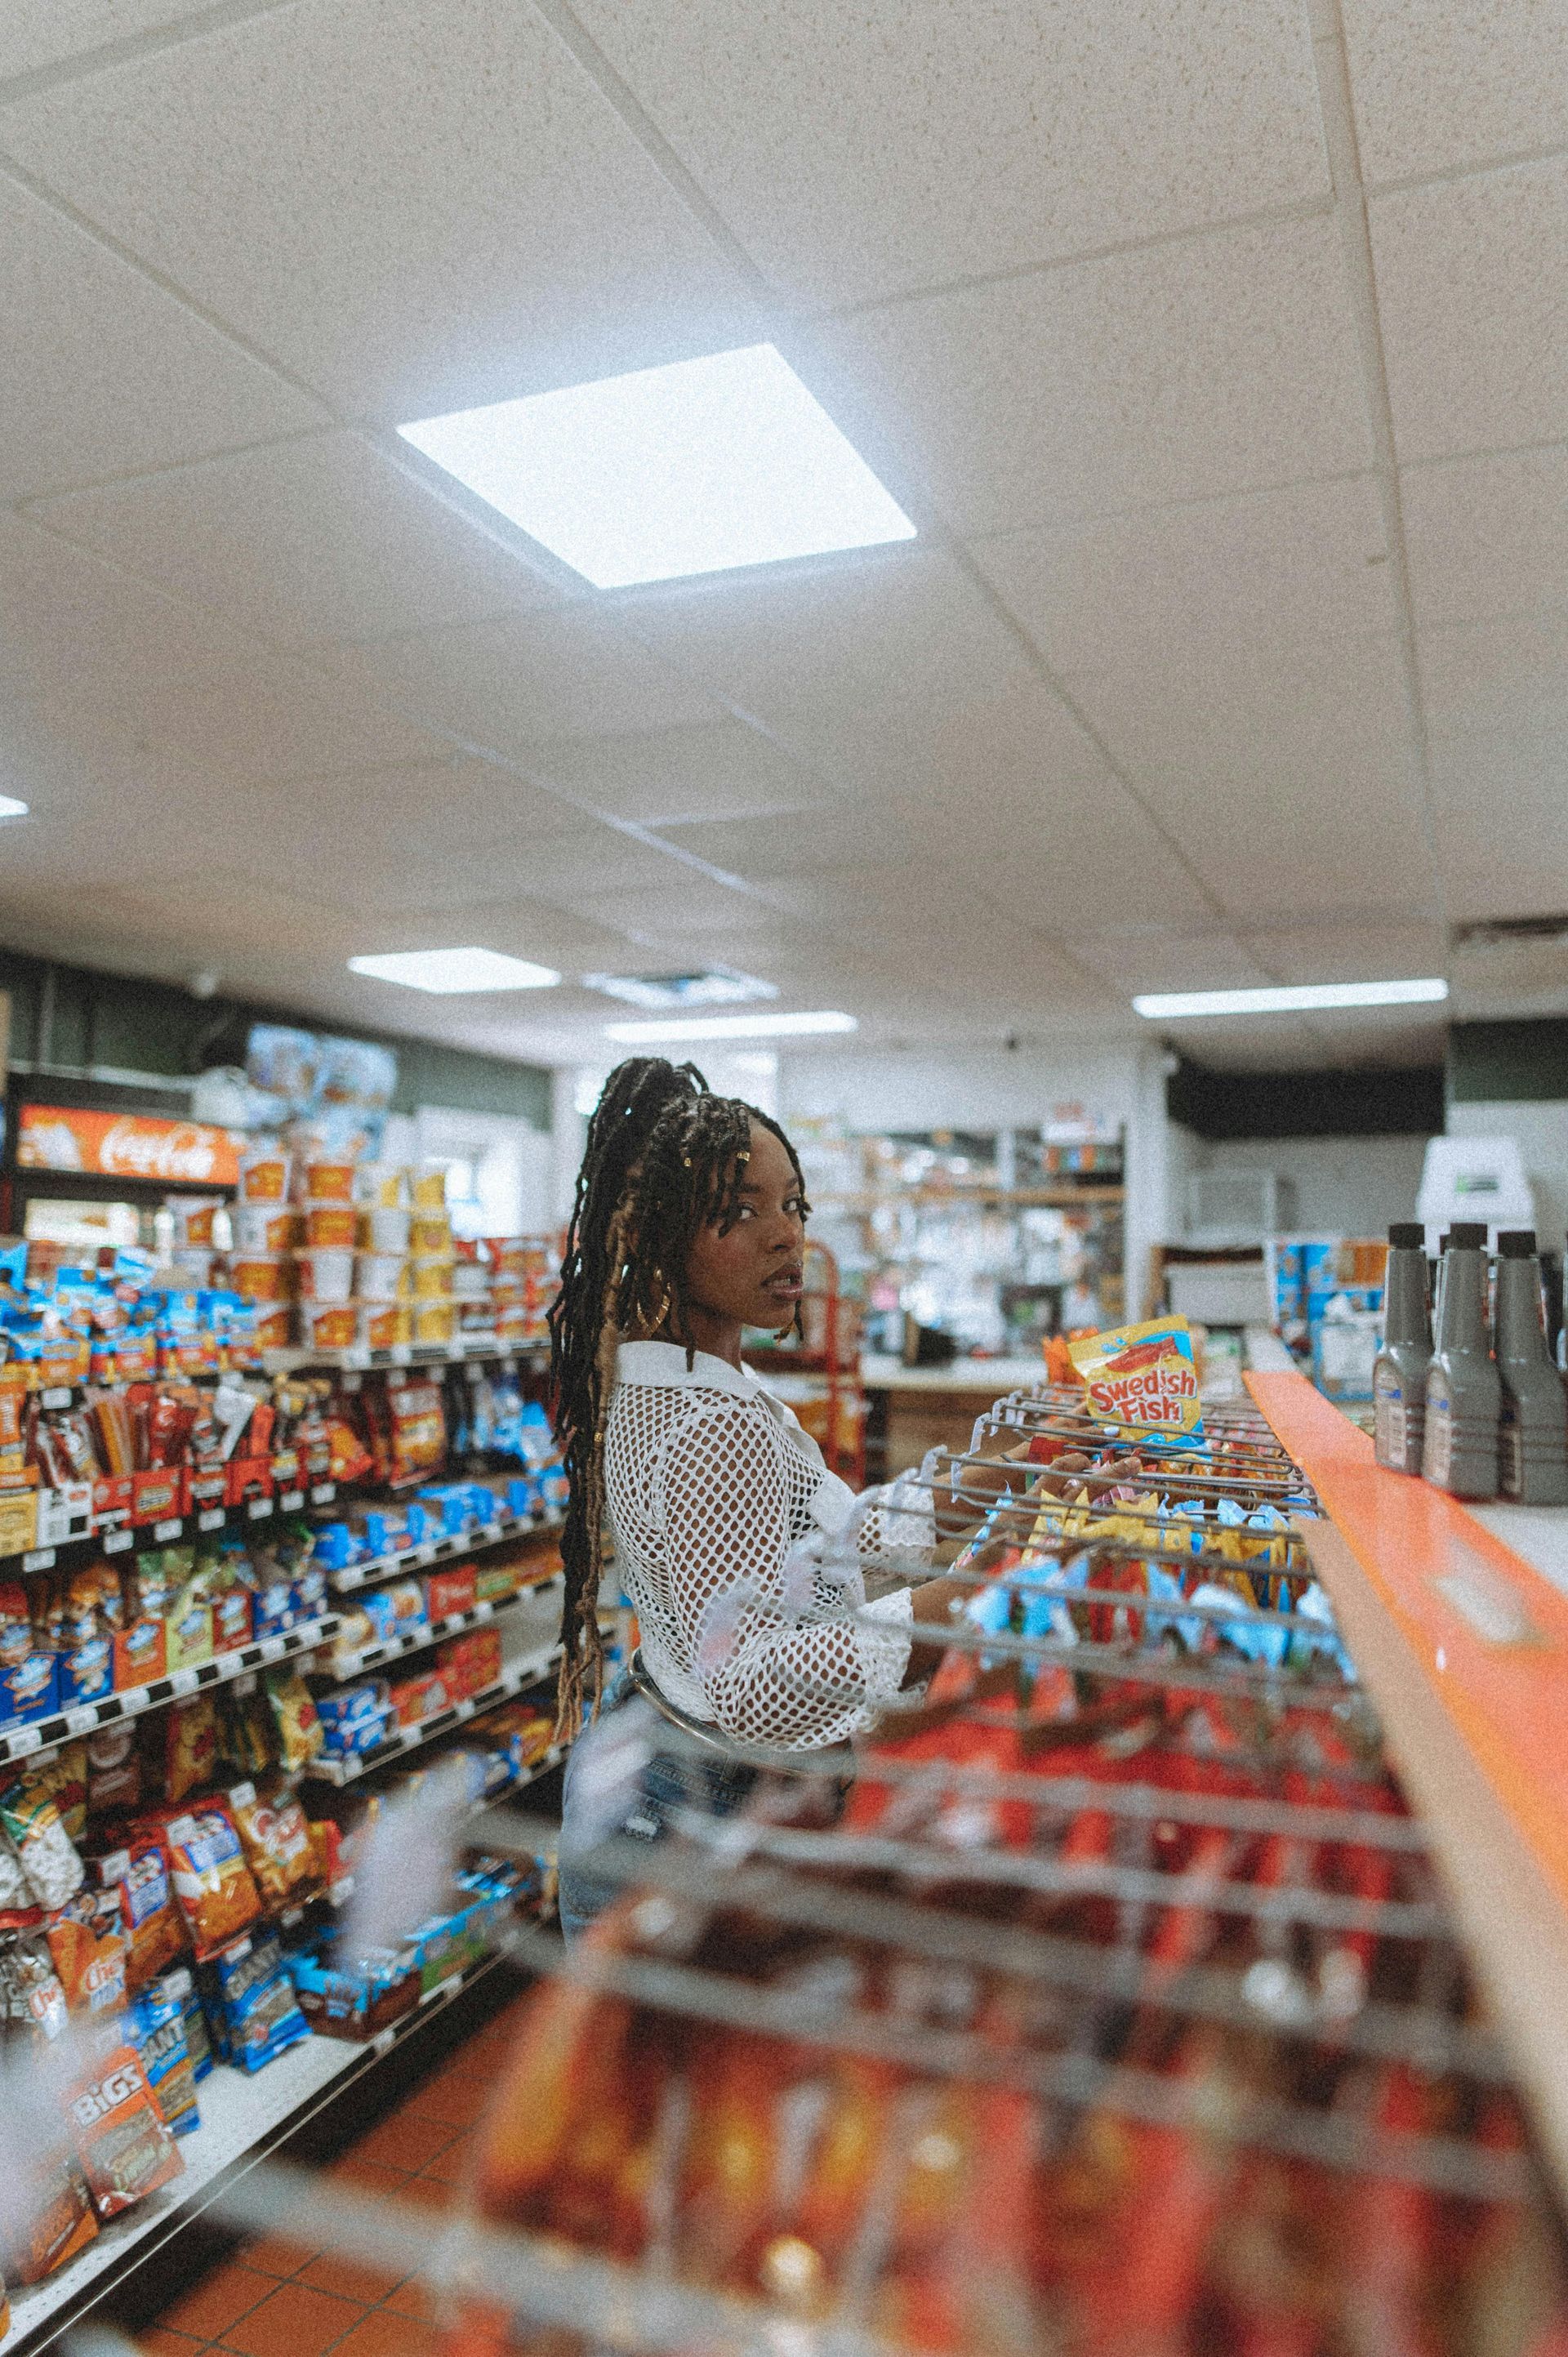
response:
M620 1897L622 1883L592 1869L604 1841L665 1841L681 1813L729 1817L757 1787L757 1768L679 1747L667 1718L622 1669L599 1716L566 1756L559 1904L568 1940Z

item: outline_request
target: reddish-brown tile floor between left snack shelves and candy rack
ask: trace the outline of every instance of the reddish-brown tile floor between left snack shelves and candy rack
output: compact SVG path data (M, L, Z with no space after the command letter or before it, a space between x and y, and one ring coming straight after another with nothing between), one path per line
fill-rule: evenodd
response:
M443 2211L514 2015L516 2006L486 2022L328 2173ZM436 2331L413 2272L382 2275L269 2237L182 2291L137 2345L149 2357L436 2357Z

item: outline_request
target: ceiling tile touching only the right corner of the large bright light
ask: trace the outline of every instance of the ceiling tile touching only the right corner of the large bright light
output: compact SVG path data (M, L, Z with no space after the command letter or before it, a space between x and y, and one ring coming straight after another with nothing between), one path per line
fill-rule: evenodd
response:
M1398 620L1370 476L1007 533L974 559L1059 672Z

